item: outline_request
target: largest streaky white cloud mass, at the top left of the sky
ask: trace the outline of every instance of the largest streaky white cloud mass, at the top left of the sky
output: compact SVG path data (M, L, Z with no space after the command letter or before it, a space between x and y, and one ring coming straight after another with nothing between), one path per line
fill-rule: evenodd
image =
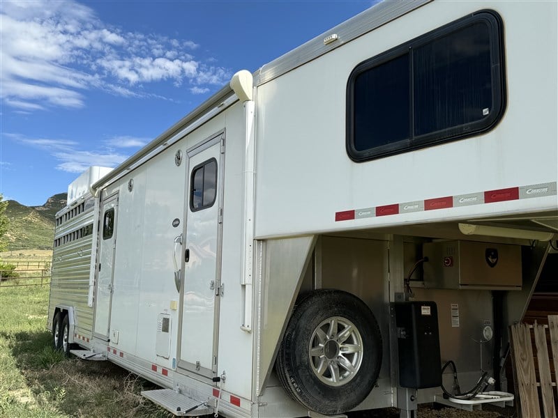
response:
M93 88L158 97L145 91L155 82L187 81L199 93L231 75L196 59L192 40L124 32L73 0L3 0L0 20L0 98L16 109L83 107Z

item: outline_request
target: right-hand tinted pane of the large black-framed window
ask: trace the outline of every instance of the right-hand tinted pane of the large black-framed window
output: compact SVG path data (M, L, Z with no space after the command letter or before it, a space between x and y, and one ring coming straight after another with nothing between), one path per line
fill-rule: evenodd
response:
M476 23L415 49L414 136L466 125L492 110L490 32Z

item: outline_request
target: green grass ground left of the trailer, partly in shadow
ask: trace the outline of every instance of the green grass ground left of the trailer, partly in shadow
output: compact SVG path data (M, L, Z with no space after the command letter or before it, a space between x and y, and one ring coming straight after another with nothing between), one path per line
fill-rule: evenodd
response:
M0 286L0 417L172 417L140 396L152 383L53 350L48 296L48 286Z

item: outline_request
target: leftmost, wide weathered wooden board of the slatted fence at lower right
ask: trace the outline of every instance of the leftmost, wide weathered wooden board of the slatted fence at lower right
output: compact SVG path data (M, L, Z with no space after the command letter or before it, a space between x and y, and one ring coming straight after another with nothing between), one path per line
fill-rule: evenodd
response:
M516 324L510 328L522 417L541 418L529 325Z

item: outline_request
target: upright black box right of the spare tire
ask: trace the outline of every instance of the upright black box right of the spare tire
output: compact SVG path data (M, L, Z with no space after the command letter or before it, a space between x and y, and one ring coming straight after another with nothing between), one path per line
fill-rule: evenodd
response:
M442 360L435 302L396 302L399 385L413 389L442 385Z

